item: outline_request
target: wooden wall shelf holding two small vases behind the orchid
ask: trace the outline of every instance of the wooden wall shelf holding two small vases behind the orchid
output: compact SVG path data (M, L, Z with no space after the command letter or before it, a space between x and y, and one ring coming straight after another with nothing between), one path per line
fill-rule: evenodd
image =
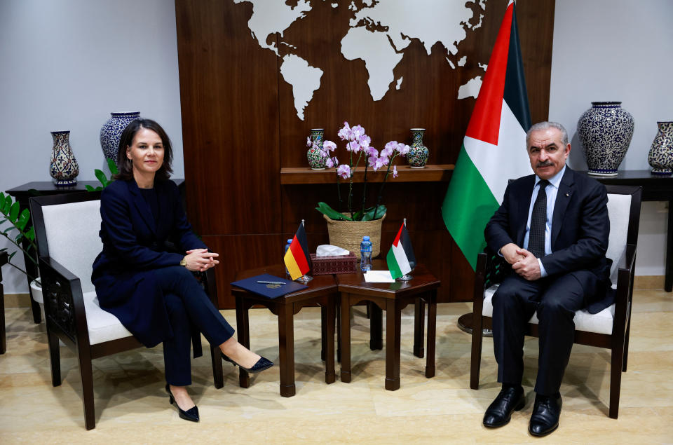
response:
M448 182L454 164L426 165L423 168L412 168L409 165L397 165L399 176L393 179L393 174L388 176L388 182ZM386 170L367 170L367 182L383 182ZM353 182L363 182L365 178L364 168L358 169L353 177ZM280 184L334 184L337 181L337 173L333 168L325 170L311 170L309 167L285 167L280 169ZM342 179L342 181L346 181Z

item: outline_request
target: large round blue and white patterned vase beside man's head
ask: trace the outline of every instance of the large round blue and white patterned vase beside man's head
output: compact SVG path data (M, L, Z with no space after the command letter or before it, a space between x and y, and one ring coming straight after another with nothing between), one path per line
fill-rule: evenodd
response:
M589 174L616 176L633 136L633 116L622 102L591 102L577 121Z

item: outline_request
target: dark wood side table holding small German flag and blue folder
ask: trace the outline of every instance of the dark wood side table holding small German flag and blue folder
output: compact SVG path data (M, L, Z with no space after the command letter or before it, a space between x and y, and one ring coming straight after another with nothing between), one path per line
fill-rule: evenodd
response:
M277 277L285 277L285 266L280 264L264 268L251 269L236 274L236 280L269 273ZM337 305L337 282L333 275L314 275L306 289L292 294L267 299L243 289L231 288L236 299L236 324L238 326L238 342L250 348L250 323L247 310L259 304L278 315L278 361L280 366L280 395L292 397L296 392L294 385L294 314L305 306L320 305L322 315L322 357L325 360L325 383L334 383L334 317ZM238 383L241 388L250 387L250 376L240 369Z

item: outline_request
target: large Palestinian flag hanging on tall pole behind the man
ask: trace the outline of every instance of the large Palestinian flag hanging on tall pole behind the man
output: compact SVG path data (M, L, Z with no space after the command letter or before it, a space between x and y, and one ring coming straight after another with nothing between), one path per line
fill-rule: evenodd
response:
M510 0L442 204L444 224L473 269L508 179L531 174L530 127L516 4Z

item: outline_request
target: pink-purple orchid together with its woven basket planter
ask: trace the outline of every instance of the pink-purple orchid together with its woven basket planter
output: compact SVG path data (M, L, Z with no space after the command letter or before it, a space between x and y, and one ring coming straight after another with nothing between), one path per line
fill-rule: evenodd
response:
M306 142L308 146L313 146L313 149L320 151L325 158L325 165L334 168L334 172L337 174L338 210L334 210L322 201L318 203L318 207L315 207L315 209L322 213L325 221L327 221L330 244L348 249L359 258L360 241L363 235L368 235L372 239L372 256L376 256L381 249L381 224L386 217L386 206L381 204L383 187L386 186L391 167L393 177L397 177L397 166L394 165L393 160L397 156L405 156L409 153L409 146L397 141L390 141L379 153L371 145L372 139L365 133L365 128L362 128L361 125L351 127L348 122L344 122L344 127L339 129L337 135L339 139L346 142L346 151L348 151L348 163L341 165L339 165L339 160L333 153L337 149L337 144L334 142L325 141L322 148L311 141L310 137ZM362 184L362 198L356 201L353 190L353 175L360 167L360 163L364 164L365 174ZM386 175L379 187L376 203L367 207L367 172L369 168L376 172L383 167L386 167ZM340 179L348 179L348 195L345 204L341 196Z

